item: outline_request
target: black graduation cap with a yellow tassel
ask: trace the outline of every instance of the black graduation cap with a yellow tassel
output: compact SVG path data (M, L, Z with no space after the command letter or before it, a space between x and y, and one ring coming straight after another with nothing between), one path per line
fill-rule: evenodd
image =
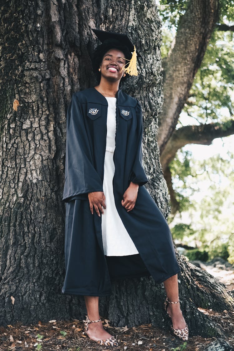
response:
M121 69L121 72L122 72L122 70L124 70L124 72L128 73L129 75L138 75L138 70L136 68L136 57L137 56L141 57L141 55L136 50L135 45L128 38L127 34L100 31L100 29L93 29L93 28L91 28L91 29L102 43L105 42L105 40L114 39L115 41L119 41L120 44L127 46L129 51L132 52L132 58L131 58L131 60L128 60L125 58L125 60L129 61L126 63L126 65L128 65L128 67L125 68L126 65L123 66L123 68Z

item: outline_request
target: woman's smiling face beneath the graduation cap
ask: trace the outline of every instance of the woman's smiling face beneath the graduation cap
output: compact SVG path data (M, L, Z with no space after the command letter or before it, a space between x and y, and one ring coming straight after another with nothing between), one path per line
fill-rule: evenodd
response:
M111 79L112 81L120 80L124 74L121 69L126 64L125 55L118 49L108 50L100 65L101 75L103 78Z

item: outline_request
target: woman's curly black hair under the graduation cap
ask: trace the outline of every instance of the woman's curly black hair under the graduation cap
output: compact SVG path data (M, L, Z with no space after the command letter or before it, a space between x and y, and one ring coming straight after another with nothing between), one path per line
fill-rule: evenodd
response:
M129 51L128 47L126 45L121 44L120 41L115 40L115 39L107 39L105 40L101 45L98 45L93 52L93 55L91 57L92 59L92 65L93 65L93 71L96 74L96 77L98 79L98 81L100 81L101 79L101 73L99 72L99 67L101 65L103 56L105 55L105 53L107 51L109 51L110 49L118 49L120 51L122 51L125 55L125 58L128 60L131 60L132 58L132 54ZM126 63L129 64L129 61L126 61ZM127 68L128 65L126 65L125 67ZM129 77L129 74L126 74L125 77L121 78L121 81L125 80L126 78Z

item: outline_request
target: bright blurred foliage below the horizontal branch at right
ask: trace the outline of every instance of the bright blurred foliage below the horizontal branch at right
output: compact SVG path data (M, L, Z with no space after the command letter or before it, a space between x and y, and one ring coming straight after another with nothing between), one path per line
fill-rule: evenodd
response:
M197 248L186 253L189 259L206 260L206 257L198 258L200 252L206 251L208 259L220 256L233 263L234 154L228 151L222 157L218 153L205 160L189 156L193 175L180 165L185 155L182 150L173 161L174 172L181 171L179 176L175 174L173 187L192 204L181 212L181 223L177 221L172 227L173 239Z

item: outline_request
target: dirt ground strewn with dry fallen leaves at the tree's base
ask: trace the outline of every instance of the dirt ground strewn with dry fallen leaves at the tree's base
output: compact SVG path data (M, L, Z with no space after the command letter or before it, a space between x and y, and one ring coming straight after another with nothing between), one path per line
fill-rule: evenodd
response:
M226 341L234 350L234 312L222 313L212 310L201 310L209 314L220 325L227 335ZM83 322L73 319L71 321L51 320L44 325L39 321L35 325L8 325L0 327L0 351L83 351L83 350L134 350L134 351L167 351L187 350L202 351L215 338L189 337L183 343L171 332L163 332L151 324L140 325L132 328L115 328L109 325L107 319L102 319L103 325L109 333L118 340L118 347L100 346L87 336L83 335Z

